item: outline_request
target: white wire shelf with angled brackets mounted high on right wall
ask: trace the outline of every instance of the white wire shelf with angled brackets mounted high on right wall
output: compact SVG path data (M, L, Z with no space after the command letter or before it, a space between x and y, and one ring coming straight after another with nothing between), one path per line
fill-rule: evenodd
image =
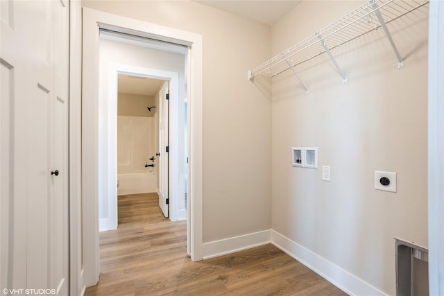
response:
M427 3L429 3L429 0L370 0L341 17L341 19L321 29L321 31L310 35L305 40L248 71L248 79L251 80L255 76L273 77L325 52L330 55L329 49L341 46L370 31L377 30L381 26L386 31L385 24L425 6ZM391 40L390 33L386 31L386 34L388 39ZM398 55L398 67L402 67L402 58L395 48L393 40L391 40L391 43L395 53ZM331 55L330 58L332 58ZM334 61L334 58L332 60ZM276 66L280 64L284 64L287 67L283 68L284 66L280 66L277 71L272 73L271 70L278 68ZM338 66L336 65L336 67ZM345 80L346 78L344 77Z

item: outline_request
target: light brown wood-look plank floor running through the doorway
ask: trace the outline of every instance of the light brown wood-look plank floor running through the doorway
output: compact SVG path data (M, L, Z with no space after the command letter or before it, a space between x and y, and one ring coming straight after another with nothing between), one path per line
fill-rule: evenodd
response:
M186 230L157 194L119 196L119 229L101 232L100 281L85 295L346 295L273 245L193 262Z

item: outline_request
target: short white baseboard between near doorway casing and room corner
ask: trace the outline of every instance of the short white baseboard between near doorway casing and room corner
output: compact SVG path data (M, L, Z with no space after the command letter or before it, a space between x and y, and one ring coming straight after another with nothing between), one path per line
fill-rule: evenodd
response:
M202 255L203 259L205 260L225 254L247 250L259 245L266 245L267 243L271 243L270 230L204 243L202 245Z

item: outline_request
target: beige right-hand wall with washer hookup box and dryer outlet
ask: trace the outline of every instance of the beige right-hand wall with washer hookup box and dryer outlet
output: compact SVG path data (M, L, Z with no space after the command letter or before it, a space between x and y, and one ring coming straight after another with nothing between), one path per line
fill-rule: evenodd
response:
M273 55L359 3L303 1L273 26ZM345 85L327 55L297 68L308 96L291 71L273 78L272 229L388 295L396 293L393 238L427 247L423 11L388 25L404 69L378 30L332 51L348 75ZM331 182L321 180L321 169L291 166L291 146L318 147ZM398 192L373 189L374 171L398 173Z

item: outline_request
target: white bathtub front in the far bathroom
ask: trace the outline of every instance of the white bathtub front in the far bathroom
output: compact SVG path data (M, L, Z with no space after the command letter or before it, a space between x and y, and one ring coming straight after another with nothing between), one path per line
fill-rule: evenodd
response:
M151 193L157 191L154 171L136 171L117 175L117 194Z

